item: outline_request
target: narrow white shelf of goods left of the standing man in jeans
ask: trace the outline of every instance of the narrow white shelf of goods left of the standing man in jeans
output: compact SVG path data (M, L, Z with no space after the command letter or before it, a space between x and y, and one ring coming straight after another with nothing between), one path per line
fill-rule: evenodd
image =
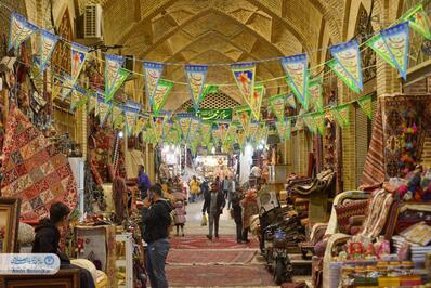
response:
M118 234L115 266L118 288L133 288L133 238L131 233Z

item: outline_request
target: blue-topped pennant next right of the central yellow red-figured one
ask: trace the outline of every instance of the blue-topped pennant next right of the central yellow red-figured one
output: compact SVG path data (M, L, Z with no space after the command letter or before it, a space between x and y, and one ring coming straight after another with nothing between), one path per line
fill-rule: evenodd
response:
M309 97L306 87L309 82L306 54L284 57L280 61L282 67L287 75L287 83L301 103L302 107L309 109Z

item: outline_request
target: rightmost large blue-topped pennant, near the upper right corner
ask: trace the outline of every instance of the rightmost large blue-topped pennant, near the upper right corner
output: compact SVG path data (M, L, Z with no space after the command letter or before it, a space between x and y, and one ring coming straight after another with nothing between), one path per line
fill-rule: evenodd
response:
M407 79L407 66L408 66L408 22L401 23L399 25L392 26L380 32L381 38L399 69L401 77L404 80Z

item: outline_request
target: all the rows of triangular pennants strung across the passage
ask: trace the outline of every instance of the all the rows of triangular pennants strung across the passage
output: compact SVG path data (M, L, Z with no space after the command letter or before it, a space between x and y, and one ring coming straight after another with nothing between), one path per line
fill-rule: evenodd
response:
M395 25L373 35L365 45L373 49L377 55L396 68L400 75L406 79L408 66L409 29L420 34L426 39L431 40L430 19L421 3L407 11ZM21 44L31 35L39 32L41 37L40 47L35 56L35 67L43 71L49 65L50 57L58 43L70 44L70 74L53 74L52 77L52 99L57 96L65 101L70 101L70 110L74 112L89 103L89 110L94 109L100 123L104 125L109 120L114 128L126 128L129 135L139 134L145 131L144 140L158 143L164 140L175 143L181 141L192 142L193 150L199 145L199 139L204 131L204 143L209 146L210 142L222 144L223 146L238 142L240 146L248 141L257 144L256 139L264 138L267 134L267 126L260 121L260 109L262 100L265 95L265 87L262 82L256 81L256 65L253 63L231 64L231 69L235 83L243 95L246 107L235 108L234 121L218 121L212 123L216 129L194 115L177 114L171 120L172 113L165 112L164 106L169 93L174 86L173 81L162 79L166 63L143 62L143 76L145 91L148 99L149 112L142 110L142 105L127 101L125 104L115 103L114 95L123 84L130 74L134 71L122 67L125 57L120 55L105 54L105 86L104 91L90 91L79 86L78 77L87 61L90 49L68 42L60 36L55 36L35 24L28 22L23 15L13 12L11 15L11 27L8 48L17 51ZM352 91L361 93L363 91L363 77L361 66L361 51L358 42L351 41L339 43L329 48L332 60L325 63ZM322 96L323 78L310 79L308 55L305 53L279 58L286 76L284 77L291 94L275 95L269 99L269 106L276 116L276 130L282 139L289 136L291 131L291 119L302 118L305 126L313 133L323 133L325 112L330 112L334 119L341 127L349 125L350 104L357 102L367 117L371 117L371 97L364 96L357 101L345 103L336 107L324 107ZM187 79L191 100L195 113L199 110L199 104L206 94L213 93L219 86L207 84L208 67L210 65L185 65L184 73ZM289 118L284 117L286 105L293 108L301 105L308 112ZM205 125L205 126L204 126ZM164 131L166 127L166 132ZM200 129L205 127L205 129ZM211 131L211 132L210 132ZM243 131L239 133L238 131ZM212 134L212 135L211 135ZM211 141L212 138L212 141ZM169 140L167 140L169 139ZM243 145L241 145L243 143ZM244 147L241 147L243 149Z

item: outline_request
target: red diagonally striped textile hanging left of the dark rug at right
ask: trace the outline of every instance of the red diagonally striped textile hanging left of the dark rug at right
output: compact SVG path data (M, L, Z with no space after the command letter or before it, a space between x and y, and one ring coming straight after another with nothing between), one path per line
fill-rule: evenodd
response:
M370 189L384 181L384 143L381 103L377 103L377 112L373 122L373 135L369 143L360 189Z

